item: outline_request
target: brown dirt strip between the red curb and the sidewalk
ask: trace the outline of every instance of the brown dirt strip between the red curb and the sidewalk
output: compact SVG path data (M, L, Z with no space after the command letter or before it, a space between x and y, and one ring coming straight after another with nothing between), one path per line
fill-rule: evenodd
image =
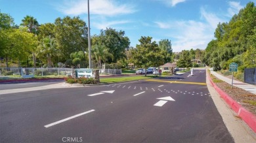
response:
M219 78L215 77L212 74L211 74L211 79L213 80L213 82L215 82L216 86L218 86L225 93L227 93L232 99L240 103L249 112L256 115L256 95L255 94L235 86L231 87L230 84L223 82L222 80L220 80Z

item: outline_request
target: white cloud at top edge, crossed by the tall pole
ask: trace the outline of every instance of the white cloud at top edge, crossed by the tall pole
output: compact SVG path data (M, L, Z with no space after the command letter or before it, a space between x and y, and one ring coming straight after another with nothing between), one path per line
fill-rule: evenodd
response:
M131 14L135 12L133 5L119 4L114 0L91 0L90 14L98 14L103 16L116 16L120 14ZM72 0L65 1L63 5L57 7L60 12L68 15L87 14L87 1Z

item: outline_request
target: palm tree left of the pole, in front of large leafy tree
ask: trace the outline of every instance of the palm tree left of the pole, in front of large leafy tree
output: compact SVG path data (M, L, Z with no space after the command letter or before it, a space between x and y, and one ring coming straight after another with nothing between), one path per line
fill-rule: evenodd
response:
M58 48L55 39L49 35L41 42L40 54L47 57L47 67L53 67L52 57L56 56Z

